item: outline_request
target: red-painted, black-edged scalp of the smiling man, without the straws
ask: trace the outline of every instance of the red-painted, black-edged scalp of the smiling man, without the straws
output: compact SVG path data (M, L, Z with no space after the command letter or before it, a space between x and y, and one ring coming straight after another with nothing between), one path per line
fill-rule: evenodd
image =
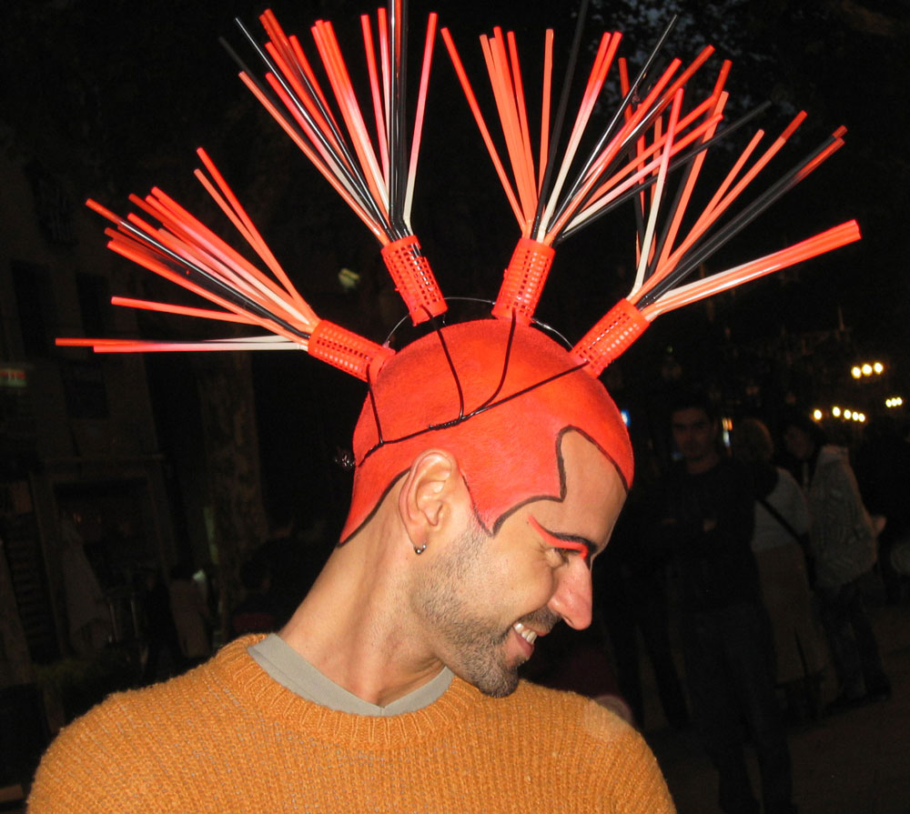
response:
M371 385L354 431L342 542L428 447L456 458L487 531L529 500L560 497L560 442L571 430L599 447L628 487L632 447L622 417L568 351L534 328L496 319L440 333L399 351Z

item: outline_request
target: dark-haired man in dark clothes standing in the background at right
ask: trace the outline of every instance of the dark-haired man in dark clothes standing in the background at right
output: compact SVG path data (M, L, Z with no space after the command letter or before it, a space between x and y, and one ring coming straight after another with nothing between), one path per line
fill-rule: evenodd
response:
M663 484L652 533L679 583L686 680L704 747L719 774L720 806L730 814L760 810L743 755L744 720L761 770L763 810L792 811L771 630L750 548L754 498L748 471L722 456L719 422L707 398L679 397L671 422L682 463Z

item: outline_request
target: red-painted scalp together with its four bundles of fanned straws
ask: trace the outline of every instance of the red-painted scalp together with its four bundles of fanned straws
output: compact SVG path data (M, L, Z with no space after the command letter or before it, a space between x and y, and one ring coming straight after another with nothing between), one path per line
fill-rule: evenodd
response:
M362 525L395 477L407 468L413 443L423 444L430 436L434 441L460 437L460 448L464 449L467 435L468 447L489 451L493 444L501 448L502 434L510 435L509 427L522 420L521 409L516 411L519 402L522 407L527 405L527 415L533 422L541 422L541 427L546 424L548 410L559 418L553 419L553 426L547 424L546 432L533 433L528 443L514 450L515 466L528 476L527 483L516 489L505 488L503 497L499 497L497 489L507 478L497 478L494 484L490 479L493 469L488 467L486 474L486 470L481 471L482 455L467 465L464 474L488 528L493 528L497 518L516 502L534 495L558 496L558 484L553 480L557 473L554 456L558 452L554 444L567 427L581 429L601 446L628 482L632 477L628 437L612 401L591 377L600 376L604 367L660 314L844 246L858 239L859 229L850 221L771 255L686 283L693 269L702 266L720 246L843 146L844 129L835 130L824 144L742 206L745 191L782 150L805 114L796 116L753 159L764 135L762 130L756 131L721 184L703 196L709 199L708 204L697 215L687 216L686 207L693 199L710 148L751 121L755 114L719 129L728 97L724 90L730 73L728 62L721 66L709 94L694 101L686 97L693 75L712 54L710 46L689 65L672 59L662 72L653 73L671 25L633 79L625 60L618 56L622 35L602 36L574 124L568 136L563 136L586 8L587 2L582 0L552 123L553 32L548 31L544 38L536 158L515 35L503 35L497 28L493 35L480 37L508 155L504 162L453 38L448 30L441 31L470 111L520 226L521 236L492 307L494 319L468 323L470 327L466 328L445 328L398 355L389 347L319 319L291 284L237 196L200 150L207 174L197 170L199 181L268 272L170 197L153 189L144 199L131 196L130 200L146 216L157 220L158 226L143 216L130 214L121 218L94 202L89 202L89 206L115 225L108 228L107 234L111 237L109 246L116 252L206 298L217 308L122 297L113 301L127 307L241 323L257 327L266 335L187 343L67 339L58 340L59 344L91 346L101 352L302 348L367 381L370 397L355 436L358 472L346 537ZM245 25L239 21L238 25L265 65L264 78L256 78L231 51L241 65L240 78L379 239L382 256L411 320L415 324L435 320L447 306L413 233L410 216L436 15L430 15L427 27L410 142L404 3L392 0L389 12L380 9L375 30L369 17L361 17L372 135L367 124L369 116L361 111L332 25L319 21L312 27L325 74L320 84L314 63L298 38L286 35L270 11L260 20L268 35L268 42L263 45ZM622 101L602 131L588 139L587 128L594 118L595 106L601 103L613 65L617 66ZM587 153L581 153L583 141L593 141L594 146ZM673 195L668 194L671 176L677 178ZM638 226L632 290L571 351L557 353L549 345L541 349L544 340L533 338L535 330L529 326L551 268L554 247L623 202L633 206ZM539 363L534 362L535 354L540 357ZM433 369L420 367L424 365ZM515 370L512 365L517 366ZM494 368L495 374L490 372ZM584 371L584 375L579 371ZM580 379L588 381L581 385ZM590 387L595 387L600 395L591 395ZM554 398L554 393L562 396ZM440 394L444 403L439 402ZM457 402L453 400L456 394ZM587 417L578 409L582 413L587 409ZM527 418L524 420L527 424ZM477 429L469 431L465 427ZM527 433L521 437L527 440ZM469 450L465 455L470 457L473 453ZM511 464L505 466L518 477L518 471L509 468Z

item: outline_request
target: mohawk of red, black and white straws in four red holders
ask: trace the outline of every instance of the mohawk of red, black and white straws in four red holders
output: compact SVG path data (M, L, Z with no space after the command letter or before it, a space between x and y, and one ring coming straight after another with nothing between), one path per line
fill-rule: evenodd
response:
M629 65L618 56L622 35L602 35L574 123L563 137L586 9L587 0L582 0L555 116L551 116L554 35L547 31L544 36L536 151L531 144L515 35L504 35L496 28L491 36L480 37L506 148L505 161L494 144L450 32L443 28L441 35L521 232L493 307L494 317L530 323L555 255L554 247L623 203L630 203L634 209L637 267L632 290L572 348L587 363L589 373L599 376L662 313L844 246L860 235L855 221L849 221L771 255L686 282L717 249L843 146L844 128L835 130L821 146L742 205L743 193L793 136L805 113L795 116L756 156L764 136L757 130L713 190L708 204L697 215L687 216L709 148L752 121L761 109L720 129L728 99L724 85L729 62L723 62L710 93L688 102L687 85L712 55L710 46L689 65L673 58L662 71L655 72L672 32L671 23L634 78ZM264 45L237 21L266 67L264 81L256 78L228 46L241 66L240 78L245 85L379 239L383 259L415 325L446 310L410 223L436 20L436 15L430 15L410 145L407 15L403 2L392 0L388 12L379 9L375 37L369 16L362 16L360 21L369 75L372 136L331 24L319 21L311 29L330 94L320 85L298 38L286 35L270 11L260 17L269 38ZM606 126L591 139L586 131L613 65L617 66L622 101ZM585 141L593 146L582 152ZM206 298L218 309L125 297L112 301L120 306L243 323L265 330L267 335L187 343L61 339L58 344L89 346L99 352L303 348L355 376L368 381L375 378L393 351L316 316L211 159L201 149L198 155L208 175L197 170L197 178L271 276L170 197L153 189L145 199L130 196L130 201L155 218L159 226L133 213L121 218L94 201L88 205L114 224L106 232L111 248ZM672 194L668 186L671 178L676 184ZM739 208L734 212L736 206Z

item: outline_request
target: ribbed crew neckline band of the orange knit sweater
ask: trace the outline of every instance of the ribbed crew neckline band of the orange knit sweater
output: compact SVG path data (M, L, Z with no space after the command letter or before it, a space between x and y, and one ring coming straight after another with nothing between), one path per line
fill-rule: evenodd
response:
M250 714L271 719L313 739L339 746L356 745L361 749L413 744L415 739L429 738L455 725L463 726L471 708L492 701L456 676L438 700L415 712L388 718L338 712L301 698L268 676L247 652L250 645L262 638L265 637L254 634L230 642L211 662L187 674L187 678L211 669L217 684Z

